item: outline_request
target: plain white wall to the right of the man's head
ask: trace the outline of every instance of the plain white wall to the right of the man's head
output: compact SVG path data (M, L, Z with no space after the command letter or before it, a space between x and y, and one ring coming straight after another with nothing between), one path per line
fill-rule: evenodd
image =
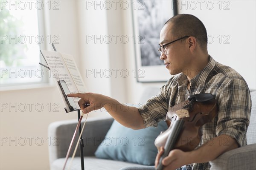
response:
M196 1L197 2L197 1ZM214 59L238 71L250 88L256 88L255 1L230 0L202 3L202 10L189 1L180 2L180 13L197 16L207 28L208 52ZM200 9L200 3L197 9ZM212 6L213 5L213 6ZM187 8L186 7L190 7ZM225 42L226 41L226 42Z

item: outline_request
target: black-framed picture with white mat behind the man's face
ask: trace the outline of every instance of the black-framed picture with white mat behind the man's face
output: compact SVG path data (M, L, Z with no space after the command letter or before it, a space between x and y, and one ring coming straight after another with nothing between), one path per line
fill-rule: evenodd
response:
M132 9L138 82L166 82L172 75L160 59L160 31L177 14L175 0L136 0ZM136 8L135 8L136 7Z

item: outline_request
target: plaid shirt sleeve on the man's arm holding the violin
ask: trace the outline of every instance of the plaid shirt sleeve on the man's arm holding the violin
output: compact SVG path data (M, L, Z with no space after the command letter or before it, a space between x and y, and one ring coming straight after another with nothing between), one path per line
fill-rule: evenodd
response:
M251 111L247 84L241 79L230 80L219 96L218 107L216 135L230 136L239 146L245 145Z

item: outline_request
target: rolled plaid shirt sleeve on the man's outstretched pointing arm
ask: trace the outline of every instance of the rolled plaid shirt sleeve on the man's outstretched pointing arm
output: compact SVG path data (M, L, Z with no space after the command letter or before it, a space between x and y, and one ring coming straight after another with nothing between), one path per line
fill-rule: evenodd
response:
M166 118L169 105L168 90L169 82L160 88L160 92L156 96L152 96L145 104L138 107L145 127L157 126L157 122Z

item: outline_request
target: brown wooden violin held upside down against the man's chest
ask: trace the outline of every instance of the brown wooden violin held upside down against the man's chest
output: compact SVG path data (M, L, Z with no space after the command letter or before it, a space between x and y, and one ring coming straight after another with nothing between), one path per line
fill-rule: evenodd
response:
M164 147L157 170L163 169L162 160L171 150L194 150L201 141L199 128L211 122L217 113L217 102L212 94L195 94L170 108L166 114L168 129L161 132L154 142L158 150Z

